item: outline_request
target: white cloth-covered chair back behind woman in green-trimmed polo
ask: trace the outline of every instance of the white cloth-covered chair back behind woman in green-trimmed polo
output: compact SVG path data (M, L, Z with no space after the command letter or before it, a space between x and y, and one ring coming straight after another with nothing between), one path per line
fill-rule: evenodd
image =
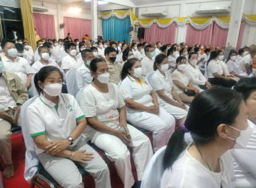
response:
M22 133L26 146L26 156L25 156L25 171L24 178L28 183L31 183L36 171L38 169L38 156L36 155L36 147L33 139L30 137L30 130L27 124L27 108L28 106L36 100L38 96L28 99L20 109L20 118L22 122Z

